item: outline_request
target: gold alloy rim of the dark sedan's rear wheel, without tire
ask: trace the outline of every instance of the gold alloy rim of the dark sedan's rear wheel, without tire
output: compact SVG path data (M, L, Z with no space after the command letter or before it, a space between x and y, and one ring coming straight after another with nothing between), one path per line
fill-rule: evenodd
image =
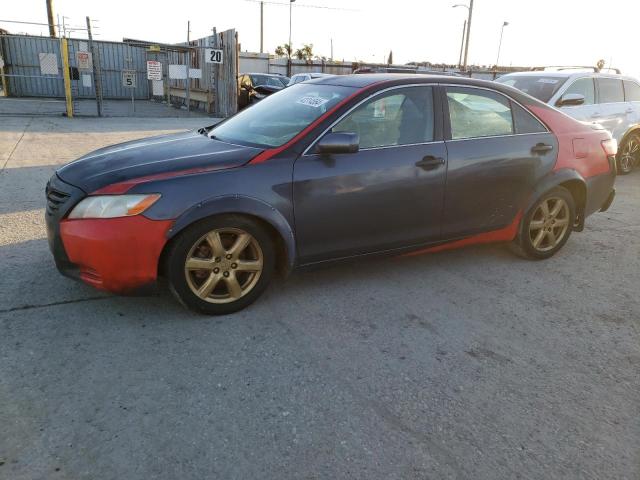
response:
M565 237L570 227L569 205L560 197L545 199L529 222L529 238L533 248L548 252Z

